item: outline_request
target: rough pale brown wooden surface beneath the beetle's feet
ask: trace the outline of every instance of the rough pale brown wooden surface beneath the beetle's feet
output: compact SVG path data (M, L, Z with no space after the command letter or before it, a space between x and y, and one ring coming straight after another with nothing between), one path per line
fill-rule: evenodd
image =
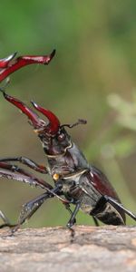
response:
M135 272L136 227L0 229L1 272Z

